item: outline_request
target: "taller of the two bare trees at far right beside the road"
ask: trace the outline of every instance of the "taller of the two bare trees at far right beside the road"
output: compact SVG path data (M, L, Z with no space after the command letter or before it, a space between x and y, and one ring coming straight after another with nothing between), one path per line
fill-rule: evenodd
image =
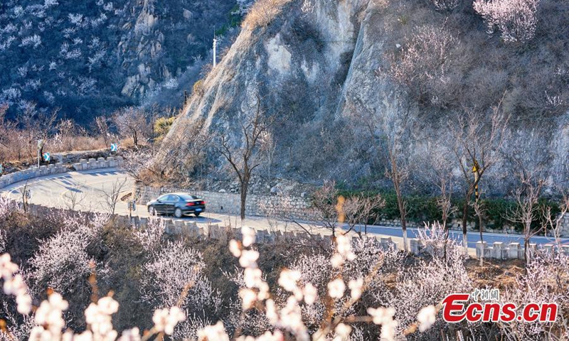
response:
M516 208L508 213L507 219L520 223L523 227L523 259L528 264L530 259L529 242L531 237L543 230L543 226L532 229L531 223L538 218L538 200L541 196L544 181L534 179L531 175L519 175L521 186L514 193Z

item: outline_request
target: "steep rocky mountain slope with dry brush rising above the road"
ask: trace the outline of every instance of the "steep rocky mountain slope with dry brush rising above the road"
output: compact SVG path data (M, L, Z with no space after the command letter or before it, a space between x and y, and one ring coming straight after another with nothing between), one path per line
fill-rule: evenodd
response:
M361 117L393 119L394 131L410 117L403 161L413 173L410 186L422 190L428 154L445 148L447 162L457 163L449 153L450 124L479 112L488 125L499 105L511 119L489 190L508 190L518 161L543 171L550 188L566 184L568 36L553 29L555 22L568 22L558 7L566 5L542 1L536 37L509 45L497 33L487 35L469 1L454 11L436 11L425 1L285 1L269 18L249 19L204 80L203 94L192 97L171 129L166 151L183 146L185 131L196 124L239 144L238 121L260 98L264 112L277 117L274 166L280 175L381 184L384 159ZM414 44L420 53L413 59ZM208 162L223 163L216 156ZM454 173L460 176L457 167Z

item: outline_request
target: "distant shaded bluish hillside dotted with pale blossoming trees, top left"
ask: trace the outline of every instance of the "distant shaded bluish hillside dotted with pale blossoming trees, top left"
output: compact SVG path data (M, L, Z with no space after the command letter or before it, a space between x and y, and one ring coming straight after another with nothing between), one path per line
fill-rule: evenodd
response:
M32 103L59 107L81 124L126 105L179 107L236 9L234 0L1 1L0 103L11 117Z

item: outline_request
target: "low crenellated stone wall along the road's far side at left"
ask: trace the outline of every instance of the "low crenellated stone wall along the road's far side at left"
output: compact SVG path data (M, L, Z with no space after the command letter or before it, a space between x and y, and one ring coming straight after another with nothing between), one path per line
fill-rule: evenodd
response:
M123 159L122 156L118 156L117 158L109 157L105 158L98 158L95 160L94 158L90 158L87 160L81 160L80 163L73 164L73 169L75 171L87 171L89 169L100 169L100 168L115 168L122 166ZM0 188L4 188L9 186L13 183L19 183L20 181L31 180L33 178L39 178L40 176L44 175L52 175L52 174L60 174L60 173L67 173L70 171L69 168L65 167L63 163L55 163L50 164L47 166L31 166L30 168L9 173L6 175L0 176Z

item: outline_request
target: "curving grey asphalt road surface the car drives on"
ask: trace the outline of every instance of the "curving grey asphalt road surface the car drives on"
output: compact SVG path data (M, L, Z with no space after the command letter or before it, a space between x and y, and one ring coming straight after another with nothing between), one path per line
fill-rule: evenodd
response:
M21 200L22 190L26 187L31 192L29 202L33 204L71 208L81 211L109 212L107 205L108 195L105 193L112 192L112 188L120 188L120 197L123 197L132 193L133 184L134 180L130 178L127 173L119 169L109 168L104 170L47 175L30 180L28 183L14 183L6 188L1 188L0 194L11 197L14 200ZM137 212L134 212L133 215L148 217L147 207L144 204L145 203L139 203L139 205L137 205ZM119 201L115 212L117 214L128 214L127 201ZM190 220L197 224L225 224L225 226L231 224L231 226L235 227L240 227L242 224L237 215L220 215L207 211L200 217L185 217L183 220ZM267 220L267 218L264 217L248 217L243 224L255 229L299 229L299 227L291 222ZM329 233L315 226L315 224L306 223L304 226L311 232ZM368 226L368 233L392 237L392 239L395 242L399 242L400 245L403 240L400 227ZM417 236L418 230L408 229L408 234L409 237L414 238ZM451 231L450 237L462 243L462 232ZM479 239L479 232L469 232L469 248L474 248ZM489 244L494 242L504 242L504 244L518 242L523 245L523 236L519 234L484 233L484 241ZM531 242L536 244L548 244L553 242L553 238L532 237ZM569 238L564 238L562 243L569 244Z

